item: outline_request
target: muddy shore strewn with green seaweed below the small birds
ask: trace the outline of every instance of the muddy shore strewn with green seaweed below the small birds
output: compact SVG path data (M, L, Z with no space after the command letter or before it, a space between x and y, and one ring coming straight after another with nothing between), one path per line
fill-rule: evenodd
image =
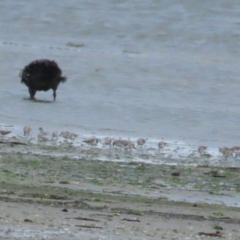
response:
M2 239L240 239L239 168L59 154L96 158L74 146L0 149Z

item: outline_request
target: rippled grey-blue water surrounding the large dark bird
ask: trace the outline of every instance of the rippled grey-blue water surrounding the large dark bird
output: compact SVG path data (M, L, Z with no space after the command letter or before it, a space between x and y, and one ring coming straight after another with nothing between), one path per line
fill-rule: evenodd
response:
M0 13L2 128L238 144L238 1L10 0ZM24 100L18 73L37 58L68 77L54 103Z

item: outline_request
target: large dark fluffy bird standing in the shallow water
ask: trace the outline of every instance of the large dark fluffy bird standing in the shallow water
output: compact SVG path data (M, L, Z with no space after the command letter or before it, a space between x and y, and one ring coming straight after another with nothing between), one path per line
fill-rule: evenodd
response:
M35 99L37 91L53 90L53 99L56 100L56 91L60 82L66 82L62 70L55 61L39 59L26 65L19 74L21 83L28 87L30 99Z

